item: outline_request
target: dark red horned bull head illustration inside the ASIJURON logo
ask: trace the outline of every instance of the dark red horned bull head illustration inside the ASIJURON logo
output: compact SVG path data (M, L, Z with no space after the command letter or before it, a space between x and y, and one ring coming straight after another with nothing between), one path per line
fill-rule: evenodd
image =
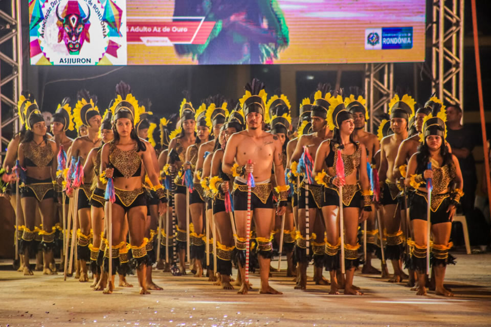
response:
M68 50L71 55L80 54L80 49L82 49L83 42L91 41L90 35L88 33L88 28L91 23L88 19L91 17L91 8L87 5L88 13L84 15L78 1L70 0L66 4L65 10L61 17L58 12L58 6L56 6L56 17L58 17L58 43L63 40L65 42L66 50ZM82 16L84 15L84 16Z

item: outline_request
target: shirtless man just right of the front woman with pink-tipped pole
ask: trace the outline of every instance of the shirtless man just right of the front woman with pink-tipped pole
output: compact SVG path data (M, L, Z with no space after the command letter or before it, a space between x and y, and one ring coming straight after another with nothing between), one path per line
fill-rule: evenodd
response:
M380 149L380 142L375 134L365 131L365 125L368 120L368 110L365 107L366 100L362 96L355 99L354 95L350 95L346 98L346 110L351 112L354 120L354 130L351 134L353 140L360 142L365 146L367 162L372 163L373 155ZM371 178L371 176L368 176ZM364 274L380 274L380 271L375 269L372 264L372 252L376 247L375 241L375 206L372 204L372 211L370 212L367 222L367 245L370 245L369 250L367 250L367 258L365 258L365 263L363 264L362 273Z

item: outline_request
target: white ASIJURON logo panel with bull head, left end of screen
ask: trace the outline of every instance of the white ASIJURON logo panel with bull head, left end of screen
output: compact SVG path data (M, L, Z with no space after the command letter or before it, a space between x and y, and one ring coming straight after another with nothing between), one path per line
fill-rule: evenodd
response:
M31 64L126 65L126 0L31 0Z

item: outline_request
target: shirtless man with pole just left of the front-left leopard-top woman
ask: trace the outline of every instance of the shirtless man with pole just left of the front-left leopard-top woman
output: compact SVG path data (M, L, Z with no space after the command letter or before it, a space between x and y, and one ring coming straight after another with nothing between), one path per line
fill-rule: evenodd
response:
M101 146L99 137L99 128L101 127L102 117L97 108L97 98L91 97L86 90L78 92L78 102L74 109L74 120L79 125L87 127L88 134L86 136L77 137L70 148L67 165L70 165L72 158L78 160L81 157L81 164L85 163L88 153L92 149ZM92 195L91 183L85 180L80 186L78 192L78 226L80 227L80 235L78 235L77 254L80 263L80 282L88 282L87 265L90 261L91 251L88 248L91 233L91 204L90 198ZM73 197L73 194L68 194Z

